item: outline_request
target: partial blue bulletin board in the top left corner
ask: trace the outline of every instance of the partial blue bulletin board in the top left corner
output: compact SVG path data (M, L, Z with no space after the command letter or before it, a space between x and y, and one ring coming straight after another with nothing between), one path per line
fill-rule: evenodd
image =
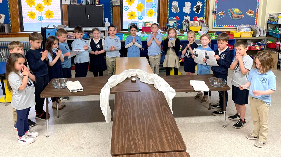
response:
M8 0L0 0L0 24L11 24Z

